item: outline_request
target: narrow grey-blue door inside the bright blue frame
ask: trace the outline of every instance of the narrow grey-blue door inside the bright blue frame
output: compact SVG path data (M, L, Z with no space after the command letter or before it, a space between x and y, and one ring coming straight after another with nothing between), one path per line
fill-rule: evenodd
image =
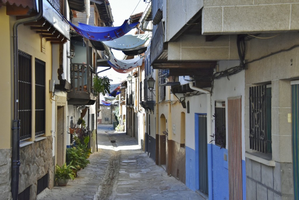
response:
M199 133L199 190L208 194L208 144L207 144L207 115L198 117Z

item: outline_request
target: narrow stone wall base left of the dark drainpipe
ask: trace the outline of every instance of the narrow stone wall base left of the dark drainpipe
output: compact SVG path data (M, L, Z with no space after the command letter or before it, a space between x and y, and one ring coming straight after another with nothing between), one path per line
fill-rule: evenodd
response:
M11 197L11 156L12 149L0 149L0 199Z

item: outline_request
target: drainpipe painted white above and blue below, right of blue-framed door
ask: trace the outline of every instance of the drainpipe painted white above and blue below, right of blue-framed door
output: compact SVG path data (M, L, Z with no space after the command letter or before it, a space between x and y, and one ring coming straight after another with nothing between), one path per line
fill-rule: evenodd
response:
M211 98L211 92L206 89L198 88L193 86L193 82L189 83L189 87L195 91L199 91L202 93L207 94L207 135L210 137L212 135L212 98ZM212 145L208 145L208 152L210 152L210 156L208 155L208 193L209 193L209 199L213 199L213 169L212 169Z

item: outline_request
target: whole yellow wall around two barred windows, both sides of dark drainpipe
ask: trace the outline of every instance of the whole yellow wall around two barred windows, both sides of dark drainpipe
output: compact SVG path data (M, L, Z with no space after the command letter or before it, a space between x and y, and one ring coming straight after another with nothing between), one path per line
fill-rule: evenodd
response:
M0 7L0 32L1 32L1 48L0 48L0 85L2 98L0 99L0 120L4 125L0 132L0 149L11 148L11 124L13 119L13 40L12 40L12 28L13 23L16 21L16 17L6 15L6 7ZM30 30L30 27L19 25L18 27L18 45L19 50L24 51L32 56L32 82L35 82L35 58L38 58L46 63L46 77L45 77L45 100L46 100L46 135L51 135L51 116L52 106L49 100L49 80L52 77L52 45L51 42L46 42L45 54L41 52L41 36L35 31ZM34 105L35 105L35 87L32 87L32 131L34 132ZM55 102L54 102L55 103ZM22 122L21 122L22 125ZM21 127L22 128L22 127ZM33 137L29 141L34 141Z

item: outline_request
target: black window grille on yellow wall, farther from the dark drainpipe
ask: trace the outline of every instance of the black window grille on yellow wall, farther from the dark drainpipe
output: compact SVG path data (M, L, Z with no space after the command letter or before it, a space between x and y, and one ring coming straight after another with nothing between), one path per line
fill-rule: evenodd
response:
M35 59L35 136L45 134L45 62Z

